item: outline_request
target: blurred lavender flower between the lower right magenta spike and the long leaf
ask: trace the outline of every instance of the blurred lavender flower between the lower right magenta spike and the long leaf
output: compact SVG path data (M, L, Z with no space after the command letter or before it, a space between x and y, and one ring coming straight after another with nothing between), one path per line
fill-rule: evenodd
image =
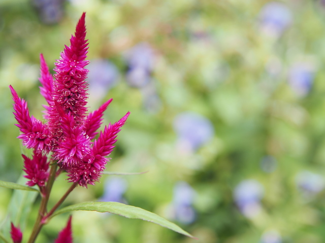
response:
M124 179L112 177L105 181L105 189L103 196L99 201L117 201L125 203L123 194L127 188L127 183Z

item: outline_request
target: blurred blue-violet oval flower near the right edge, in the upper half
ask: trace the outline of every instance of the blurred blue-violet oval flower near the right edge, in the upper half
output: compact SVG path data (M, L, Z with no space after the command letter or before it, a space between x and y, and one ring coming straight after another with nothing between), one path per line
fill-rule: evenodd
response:
M288 82L299 96L308 94L314 79L314 68L309 63L296 63L290 68Z

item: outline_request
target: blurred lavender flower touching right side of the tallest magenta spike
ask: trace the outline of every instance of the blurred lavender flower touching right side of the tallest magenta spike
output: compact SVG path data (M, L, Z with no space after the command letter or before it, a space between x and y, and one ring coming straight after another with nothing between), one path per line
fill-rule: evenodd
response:
M87 66L90 97L101 100L118 81L117 67L106 59L94 59ZM93 95L91 95L93 94Z

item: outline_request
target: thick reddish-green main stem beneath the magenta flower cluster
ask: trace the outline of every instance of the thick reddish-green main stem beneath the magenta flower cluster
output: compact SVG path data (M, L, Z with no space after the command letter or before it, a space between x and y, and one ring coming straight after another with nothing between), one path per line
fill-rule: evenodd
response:
M51 166L50 170L50 176L49 180L47 182L46 188L45 188L45 196L42 195L41 205L39 209L39 215L35 221L34 227L31 231L31 235L29 237L28 243L34 243L36 240L37 235L39 234L41 228L43 227L44 223L42 223L42 219L44 215L46 214L46 206L50 197L50 192L55 180L55 174L56 174L57 164L54 164Z

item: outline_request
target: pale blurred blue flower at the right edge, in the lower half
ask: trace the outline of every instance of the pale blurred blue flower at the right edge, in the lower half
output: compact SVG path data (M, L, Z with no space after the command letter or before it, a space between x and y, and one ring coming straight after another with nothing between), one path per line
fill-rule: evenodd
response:
M323 176L310 172L302 171L296 177L298 188L306 197L316 195L325 188L325 180Z

